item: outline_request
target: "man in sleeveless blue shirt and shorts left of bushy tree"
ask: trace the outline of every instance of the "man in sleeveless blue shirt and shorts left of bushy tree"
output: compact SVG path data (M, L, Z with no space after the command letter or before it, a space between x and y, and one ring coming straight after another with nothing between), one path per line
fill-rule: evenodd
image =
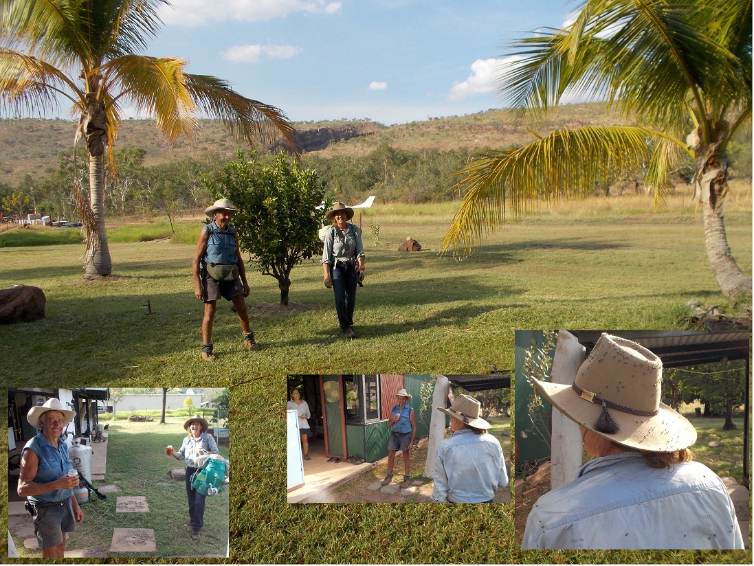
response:
M244 260L238 248L238 232L230 224L231 216L238 213L227 198L216 200L204 213L213 219L202 228L196 243L192 271L194 273L194 295L204 301L204 319L201 321L201 359L213 362L215 359L212 342L212 325L217 311L217 301L225 298L231 301L241 331L244 333L244 347L258 350L254 333L249 323L245 297L250 287L246 279Z

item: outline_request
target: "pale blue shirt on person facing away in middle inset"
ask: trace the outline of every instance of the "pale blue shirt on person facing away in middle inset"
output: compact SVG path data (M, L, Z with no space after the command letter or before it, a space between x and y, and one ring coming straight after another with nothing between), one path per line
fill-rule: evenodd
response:
M432 499L438 503L482 503L507 485L503 449L491 433L458 430L437 445Z

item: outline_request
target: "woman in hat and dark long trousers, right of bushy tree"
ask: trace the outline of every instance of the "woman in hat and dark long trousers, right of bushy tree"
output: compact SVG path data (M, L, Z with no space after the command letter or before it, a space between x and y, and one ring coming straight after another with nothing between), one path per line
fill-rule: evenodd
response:
M325 213L333 226L325 233L322 272L327 289L335 292L335 311L345 338L353 340L356 286L364 279L364 246L361 228L349 223L354 209L335 203Z

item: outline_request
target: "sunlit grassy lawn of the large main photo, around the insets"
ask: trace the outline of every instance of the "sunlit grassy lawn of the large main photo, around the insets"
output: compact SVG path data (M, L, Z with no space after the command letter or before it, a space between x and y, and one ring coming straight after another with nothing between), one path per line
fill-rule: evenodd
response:
M726 216L731 248L746 271L752 259L750 203L749 187L749 200ZM688 204L658 214L633 200L627 207L636 210L611 205L593 213L539 213L502 229L463 262L437 255L456 210L452 204L375 207L363 213L367 277L358 290L356 341L345 342L339 333L333 292L322 285L320 265L305 262L293 270L290 299L297 308L274 307L277 282L250 274L247 304L262 344L258 352L242 349L237 318L225 305L219 308L213 336L219 358L213 365L199 360L201 303L192 292L192 240L112 243L116 277L98 283L81 280L81 246L0 247L0 288L36 285L48 298L47 319L0 328L0 372L10 387L58 387L61 378L66 387L162 387L176 378L195 387L231 387L231 461L234 477L244 484L229 501L234 561L535 561L517 548L507 506L288 505L286 377L512 369L515 329L674 329L689 298L724 304L706 262L698 213ZM186 233L196 237L201 224L192 222ZM372 222L381 225L379 242L371 238ZM409 236L424 251L397 252ZM150 316L147 301L155 313ZM179 435L167 436L178 442ZM164 466L158 476L169 464ZM177 488L170 506L184 512L185 496ZM751 553L546 558L569 560L750 564Z

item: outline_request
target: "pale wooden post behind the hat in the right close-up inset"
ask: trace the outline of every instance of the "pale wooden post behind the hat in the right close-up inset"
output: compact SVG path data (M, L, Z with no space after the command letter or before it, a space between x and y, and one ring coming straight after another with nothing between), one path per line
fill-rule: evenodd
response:
M553 356L553 383L570 385L576 378L576 372L584 363L585 348L578 343L574 335L566 330L558 332L558 342ZM553 407L552 436L552 471L550 483L552 488L572 482L581 467L583 448L581 431L571 419Z

